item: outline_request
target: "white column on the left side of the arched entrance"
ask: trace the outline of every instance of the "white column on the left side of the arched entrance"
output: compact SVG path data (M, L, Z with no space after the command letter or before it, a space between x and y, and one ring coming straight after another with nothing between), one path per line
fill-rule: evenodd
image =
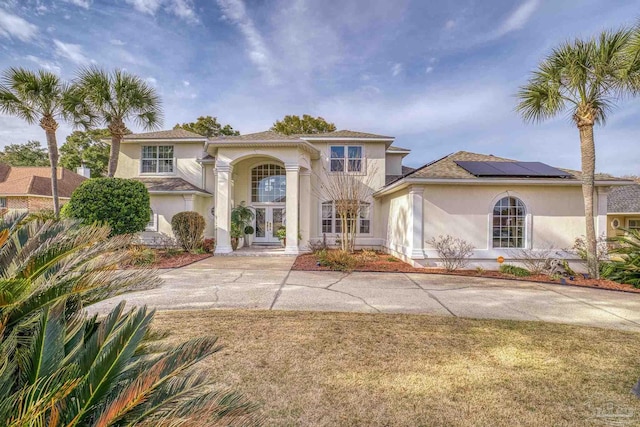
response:
M228 163L216 163L216 254L231 249L231 170Z

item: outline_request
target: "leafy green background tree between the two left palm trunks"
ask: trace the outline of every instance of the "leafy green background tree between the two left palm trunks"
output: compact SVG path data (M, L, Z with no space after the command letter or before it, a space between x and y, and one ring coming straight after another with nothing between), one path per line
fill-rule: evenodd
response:
M131 132L127 129L126 133ZM84 164L91 170L92 178L106 176L109 144L104 142L104 139L110 137L111 133L106 128L73 132L60 147L60 165L69 170L76 170Z

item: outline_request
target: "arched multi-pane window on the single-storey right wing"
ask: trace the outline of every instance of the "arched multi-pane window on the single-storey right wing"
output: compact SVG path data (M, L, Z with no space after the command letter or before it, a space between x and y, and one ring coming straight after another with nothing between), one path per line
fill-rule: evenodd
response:
M524 248L526 208L522 200L504 197L493 207L493 247Z

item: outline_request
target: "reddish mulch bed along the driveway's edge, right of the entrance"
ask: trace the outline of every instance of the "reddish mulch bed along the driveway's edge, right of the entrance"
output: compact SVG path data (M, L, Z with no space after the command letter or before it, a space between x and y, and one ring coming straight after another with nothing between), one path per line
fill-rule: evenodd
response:
M314 254L303 254L296 258L292 270L300 271L332 271L329 267L318 265L318 261ZM560 280L554 280L546 274L538 274L535 276L516 277L512 274L504 274L499 271L485 270L479 273L476 270L456 270L455 272L446 271L442 268L416 268L409 264L385 253L378 253L378 259L369 261L359 265L354 271L359 272L378 272L378 273L421 273L421 274L447 274L451 276L470 276L470 277L487 277L491 279L519 280L526 282L542 282L553 283L556 285L566 286L582 286L586 288L607 289L613 291L640 293L640 289L634 288L632 285L613 282L605 279L585 279L582 275L574 277L574 280L565 278L566 283Z

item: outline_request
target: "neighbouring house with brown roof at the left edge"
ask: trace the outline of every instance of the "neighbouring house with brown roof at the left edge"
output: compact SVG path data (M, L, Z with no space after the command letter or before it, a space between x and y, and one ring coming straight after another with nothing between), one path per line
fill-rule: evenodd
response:
M58 197L62 206L85 177L58 168ZM0 209L39 211L53 209L51 168L15 167L0 163Z

